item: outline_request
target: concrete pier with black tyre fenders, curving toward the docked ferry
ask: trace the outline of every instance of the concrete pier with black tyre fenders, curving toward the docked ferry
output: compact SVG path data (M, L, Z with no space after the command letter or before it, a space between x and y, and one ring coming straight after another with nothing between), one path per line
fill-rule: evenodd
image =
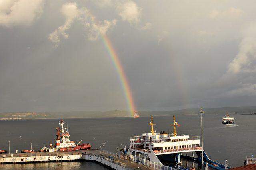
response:
M115 170L175 170L151 161L128 158L105 150L0 154L0 164L93 161Z

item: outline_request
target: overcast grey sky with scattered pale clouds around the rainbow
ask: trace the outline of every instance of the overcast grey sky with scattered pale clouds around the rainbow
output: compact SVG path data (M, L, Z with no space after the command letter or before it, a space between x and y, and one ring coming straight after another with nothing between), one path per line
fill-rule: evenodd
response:
M1 0L0 112L256 106L255 0Z

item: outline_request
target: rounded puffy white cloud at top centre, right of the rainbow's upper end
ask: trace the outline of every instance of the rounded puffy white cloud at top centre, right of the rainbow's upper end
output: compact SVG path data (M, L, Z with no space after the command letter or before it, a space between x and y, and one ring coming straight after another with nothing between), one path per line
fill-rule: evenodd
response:
M130 25L137 25L140 22L142 8L131 0L124 3L120 2L116 6L116 11L121 16L123 21L128 21Z

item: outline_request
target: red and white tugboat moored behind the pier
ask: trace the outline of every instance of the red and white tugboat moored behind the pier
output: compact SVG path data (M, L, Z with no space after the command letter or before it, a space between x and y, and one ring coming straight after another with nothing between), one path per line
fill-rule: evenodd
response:
M61 128L57 127L55 128L57 131L57 139L56 139L56 145L55 148L60 152L68 152L68 151L75 151L75 150L90 150L92 147L89 143L82 143L81 145L78 145L75 143L75 141L69 140L69 132L65 131L66 127L64 127L64 121L61 120L59 125ZM50 149L49 149L50 152Z

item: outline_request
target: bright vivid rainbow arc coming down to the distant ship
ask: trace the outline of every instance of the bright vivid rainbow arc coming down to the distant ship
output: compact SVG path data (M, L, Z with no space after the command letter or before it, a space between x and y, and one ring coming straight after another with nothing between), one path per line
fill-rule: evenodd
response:
M136 107L135 107L134 100L132 97L131 88L129 86L126 74L124 73L124 68L123 68L123 66L118 58L118 55L117 55L111 41L109 40L109 38L103 34L101 34L101 37L102 37L103 43L108 51L108 54L112 60L112 63L114 64L114 66L116 68L116 72L118 74L119 80L122 84L122 89L124 92L124 96L126 98L128 110L130 111L131 116L133 116L134 113L136 112Z

